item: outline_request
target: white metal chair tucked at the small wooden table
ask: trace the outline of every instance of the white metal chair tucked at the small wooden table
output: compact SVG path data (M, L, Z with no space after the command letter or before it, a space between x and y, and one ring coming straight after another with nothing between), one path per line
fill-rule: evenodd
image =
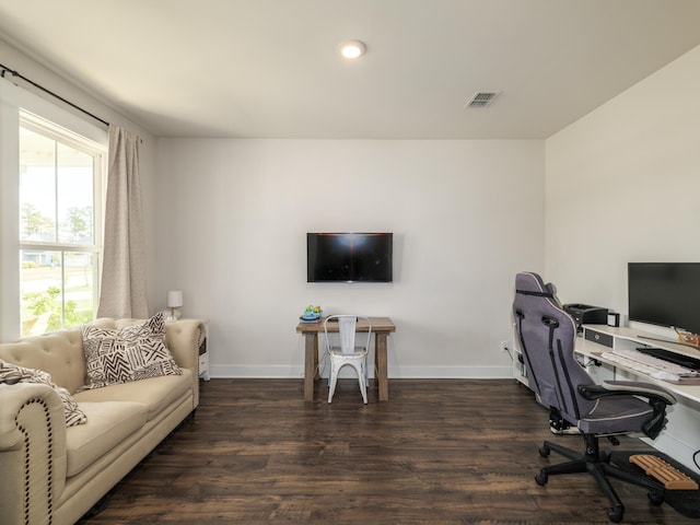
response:
M355 346L357 324L362 320L366 324L366 340L364 330L360 346ZM328 324L338 324L340 346L334 346L329 338ZM330 358L330 376L328 377L328 402L332 400L338 382L338 373L346 364L352 366L358 373L358 383L362 393L362 401L368 404L368 353L370 338L372 337L372 323L369 317L358 315L329 315L324 320L324 331L326 335L326 353ZM332 332L335 330L331 330ZM363 345L362 345L363 343Z

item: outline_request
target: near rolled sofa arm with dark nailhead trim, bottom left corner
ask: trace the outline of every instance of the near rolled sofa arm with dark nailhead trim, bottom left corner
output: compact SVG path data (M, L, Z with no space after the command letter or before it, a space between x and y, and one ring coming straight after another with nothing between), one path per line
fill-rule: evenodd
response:
M0 384L0 521L45 523L66 485L63 404L30 383Z

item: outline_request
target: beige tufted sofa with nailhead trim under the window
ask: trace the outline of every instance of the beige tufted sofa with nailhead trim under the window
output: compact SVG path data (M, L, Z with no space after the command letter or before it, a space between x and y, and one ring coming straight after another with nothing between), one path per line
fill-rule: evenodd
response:
M137 323L102 318L91 326ZM56 389L0 384L0 523L69 525L98 502L197 408L205 337L198 319L166 323L165 343L182 374L83 392L81 328L0 345L0 360L48 372L88 417L67 427Z

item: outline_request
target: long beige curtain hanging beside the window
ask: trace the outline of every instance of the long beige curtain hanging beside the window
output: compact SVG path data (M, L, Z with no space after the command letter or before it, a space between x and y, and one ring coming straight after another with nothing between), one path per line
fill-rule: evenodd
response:
M118 126L109 126L104 257L97 317L149 316L140 143L136 135Z

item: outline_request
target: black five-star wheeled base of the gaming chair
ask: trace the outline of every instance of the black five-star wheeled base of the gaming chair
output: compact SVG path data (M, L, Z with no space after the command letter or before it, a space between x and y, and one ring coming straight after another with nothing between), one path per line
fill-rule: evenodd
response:
M539 474L535 476L537 485L540 487L547 485L549 476L588 472L594 477L603 493L610 501L611 506L608 509L607 513L608 518L614 523L622 521L625 515L625 505L620 501L608 478L620 479L628 483L648 489L649 499L655 505L660 505L664 502L666 489L662 483L656 482L646 476L638 476L610 465L610 455L605 452L599 452L598 438L592 434L583 434L583 438L585 441L584 454L563 447L557 443L545 441L541 448L539 448L540 456L547 457L551 451L555 451L561 456L568 458L569 462L542 467Z

